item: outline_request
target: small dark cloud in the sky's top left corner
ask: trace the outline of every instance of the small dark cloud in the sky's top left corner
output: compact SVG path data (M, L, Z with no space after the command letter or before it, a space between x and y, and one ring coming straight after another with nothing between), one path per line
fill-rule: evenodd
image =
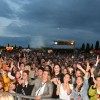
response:
M0 0L0 17L5 17L5 18L13 17L12 10L4 0Z

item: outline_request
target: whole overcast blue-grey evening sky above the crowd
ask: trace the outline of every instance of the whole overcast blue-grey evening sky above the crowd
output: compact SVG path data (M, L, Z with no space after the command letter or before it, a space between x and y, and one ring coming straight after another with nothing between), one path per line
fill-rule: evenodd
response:
M100 40L100 0L0 0L0 44Z

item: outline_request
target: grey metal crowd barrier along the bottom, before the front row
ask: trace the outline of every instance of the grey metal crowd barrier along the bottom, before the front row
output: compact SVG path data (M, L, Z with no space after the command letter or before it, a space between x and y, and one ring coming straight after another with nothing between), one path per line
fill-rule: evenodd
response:
M33 96L25 96L22 94L12 94L14 96L14 100L35 100L35 97ZM48 99L41 99L41 100L61 100L61 99L53 99L53 98L48 98Z

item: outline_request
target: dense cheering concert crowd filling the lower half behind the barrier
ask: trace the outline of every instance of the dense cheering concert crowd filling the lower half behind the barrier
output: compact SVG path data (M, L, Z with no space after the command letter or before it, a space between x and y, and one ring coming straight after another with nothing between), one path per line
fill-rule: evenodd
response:
M2 52L0 93L36 100L100 100L100 57L86 53Z

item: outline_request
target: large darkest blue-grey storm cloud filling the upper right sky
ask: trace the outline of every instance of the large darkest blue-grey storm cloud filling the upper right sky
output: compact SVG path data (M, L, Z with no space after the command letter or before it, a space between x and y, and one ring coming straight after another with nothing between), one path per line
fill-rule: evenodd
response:
M61 28L91 30L100 24L99 4L100 0L33 0L22 7L19 17Z

